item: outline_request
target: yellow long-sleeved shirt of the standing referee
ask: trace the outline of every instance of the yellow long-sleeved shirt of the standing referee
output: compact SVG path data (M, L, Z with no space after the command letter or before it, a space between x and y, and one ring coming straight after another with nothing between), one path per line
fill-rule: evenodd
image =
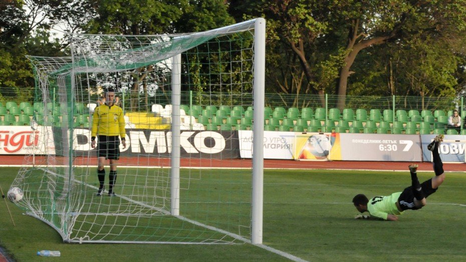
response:
M96 107L92 115L91 136L96 135L120 135L121 138L126 136L123 110L119 106L100 105Z

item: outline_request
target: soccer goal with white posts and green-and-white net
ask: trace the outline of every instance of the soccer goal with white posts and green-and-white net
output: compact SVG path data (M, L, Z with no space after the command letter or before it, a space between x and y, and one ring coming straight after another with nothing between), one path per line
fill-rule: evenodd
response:
M17 204L65 242L262 243L265 20L67 37L71 57L29 57L40 145L12 185L24 191ZM124 111L127 147L116 196L97 196L90 127L108 87ZM240 132L253 132L253 148ZM108 160L105 170L108 189Z

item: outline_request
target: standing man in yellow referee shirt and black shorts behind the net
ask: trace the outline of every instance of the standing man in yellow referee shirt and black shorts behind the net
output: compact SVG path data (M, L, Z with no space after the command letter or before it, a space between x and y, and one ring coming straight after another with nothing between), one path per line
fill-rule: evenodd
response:
M101 196L104 190L106 159L110 159L108 195L115 196L113 186L116 181L118 159L120 159L120 139L118 136L121 137L121 144L125 148L125 119L123 118L123 110L114 104L115 90L113 88L107 89L105 99L106 103L96 107L92 116L91 146L92 148L96 147L96 136L98 136L97 177L100 186L97 196Z

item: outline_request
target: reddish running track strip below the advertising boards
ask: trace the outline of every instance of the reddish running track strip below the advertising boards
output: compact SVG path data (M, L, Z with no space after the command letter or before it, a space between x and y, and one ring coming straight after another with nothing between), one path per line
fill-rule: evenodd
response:
M56 164L68 164L68 161L63 157L49 158L55 159ZM22 165L25 156L0 156L0 165ZM29 157L28 163L32 162L32 157ZM35 163L45 163L46 158L43 156L36 156ZM382 162L382 161L295 161L295 160L275 160L265 159L264 168L277 168L277 169L363 169L363 170L408 170L408 165L411 162ZM419 164L419 171L432 171L432 163L430 162L416 162ZM97 158L77 157L73 164L75 165L97 165ZM124 157L120 159L119 166L170 166L169 158L136 158ZM213 167L213 168L250 168L252 166L251 159L194 159L182 158L181 167ZM464 163L444 163L443 169L445 171L463 172L466 171L466 164Z

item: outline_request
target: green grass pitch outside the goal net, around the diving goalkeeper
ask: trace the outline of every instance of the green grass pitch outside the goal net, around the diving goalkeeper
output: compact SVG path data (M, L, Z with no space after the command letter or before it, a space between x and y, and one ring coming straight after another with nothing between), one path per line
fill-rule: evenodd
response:
M4 193L17 171L0 168ZM433 172L418 176L422 182ZM410 184L407 171L265 170L264 183L267 246L304 260L466 260L466 173L447 173L424 208L407 210L396 222L355 220L351 199L401 191ZM36 252L43 249L60 250L55 260L67 261L287 260L251 244L67 244L52 227L8 202L13 226L0 200L0 245L20 261L39 259Z

